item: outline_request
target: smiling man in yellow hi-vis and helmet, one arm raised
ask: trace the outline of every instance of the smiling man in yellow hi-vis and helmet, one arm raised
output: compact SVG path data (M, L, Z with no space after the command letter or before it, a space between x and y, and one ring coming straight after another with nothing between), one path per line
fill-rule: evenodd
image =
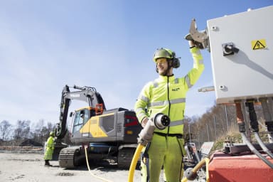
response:
M148 82L138 97L134 109L144 127L149 118L157 113L168 115L171 124L166 129L155 129L154 136L146 145L141 160L141 181L158 182L164 166L166 181L181 181L183 177L183 118L186 92L203 73L203 57L194 41L188 41L193 56L193 68L185 77L174 77L173 68L179 68L176 54L167 48L154 53L159 78Z

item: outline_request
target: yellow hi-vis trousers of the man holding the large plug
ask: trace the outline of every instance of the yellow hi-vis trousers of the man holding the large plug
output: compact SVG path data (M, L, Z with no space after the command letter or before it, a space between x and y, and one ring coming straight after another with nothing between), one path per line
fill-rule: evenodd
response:
M154 134L148 149L149 159L141 160L141 182L159 182L161 168L168 182L180 182L183 177L184 139ZM149 164L148 164L149 162ZM147 171L146 166L149 166Z

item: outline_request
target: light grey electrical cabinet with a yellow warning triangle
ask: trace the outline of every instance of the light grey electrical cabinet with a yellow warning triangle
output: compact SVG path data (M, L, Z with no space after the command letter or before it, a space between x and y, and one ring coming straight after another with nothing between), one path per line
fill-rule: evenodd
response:
M273 6L207 25L216 102L273 97Z

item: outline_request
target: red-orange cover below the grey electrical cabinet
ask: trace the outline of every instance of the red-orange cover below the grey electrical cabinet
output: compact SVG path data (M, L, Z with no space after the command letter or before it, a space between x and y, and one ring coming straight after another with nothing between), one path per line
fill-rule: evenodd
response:
M273 159L269 156L266 158L273 163ZM273 169L255 154L231 156L220 152L215 153L211 158L208 170L210 182L273 181Z

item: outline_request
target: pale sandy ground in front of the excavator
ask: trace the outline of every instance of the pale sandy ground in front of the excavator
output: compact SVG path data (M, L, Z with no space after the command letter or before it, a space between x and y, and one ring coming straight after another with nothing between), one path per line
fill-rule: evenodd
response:
M0 152L0 181L23 181L23 182L40 182L40 181L111 181L125 182L128 181L129 170L121 170L117 166L101 164L92 166L88 171L87 166L80 166L77 169L64 169L58 166L58 161L50 161L52 167L45 167L43 154L33 153L11 153ZM100 178L92 176L92 174ZM139 169L134 171L134 181L141 181Z

